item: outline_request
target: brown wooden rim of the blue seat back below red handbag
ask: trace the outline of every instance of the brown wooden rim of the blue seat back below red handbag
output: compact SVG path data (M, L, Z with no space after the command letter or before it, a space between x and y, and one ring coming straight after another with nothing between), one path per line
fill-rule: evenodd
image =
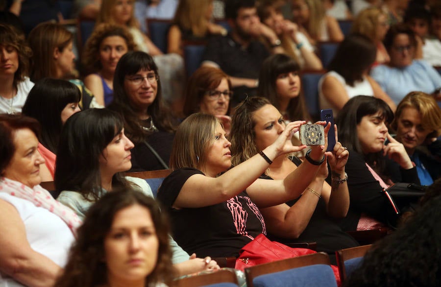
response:
M248 287L254 287L255 278L258 276L261 276L261 275L290 270L290 269L297 268L297 267L315 265L315 264L325 264L325 265L329 266L329 264L330 264L329 256L326 253L319 252L319 253L314 253L314 254L309 254L309 255L304 255L304 256L279 260L279 261L274 261L274 262L270 262L270 263L265 263L265 264L260 264L260 265L252 266L249 268L245 268L246 285ZM331 269L331 267L329 267L329 268ZM331 269L331 273L333 273L332 269ZM289 275L287 275L287 276L289 276ZM315 275L315 276L319 276L319 275ZM332 275L332 277L335 282L334 275ZM275 279L276 278L274 278L274 280ZM264 280L265 280L265 278L264 278ZM268 285L259 285L259 286L268 286ZM279 285L279 286L286 287L286 286L294 286L294 285L287 285L285 282L284 285ZM315 286L315 285L311 285L311 286ZM316 286L319 286L319 285L316 285ZM337 285L335 285L335 286L337 286ZM271 287L274 287L274 285L271 285Z

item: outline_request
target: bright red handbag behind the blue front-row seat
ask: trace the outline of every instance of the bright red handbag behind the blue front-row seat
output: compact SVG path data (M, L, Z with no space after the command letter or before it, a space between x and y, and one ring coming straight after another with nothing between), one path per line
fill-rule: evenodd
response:
M271 241L265 235L259 234L254 240L242 247L239 258L236 259L235 269L244 271L245 268L262 263L298 257L316 253L307 248L292 248L280 242ZM338 267L331 265L334 271L337 285L340 286L340 274Z

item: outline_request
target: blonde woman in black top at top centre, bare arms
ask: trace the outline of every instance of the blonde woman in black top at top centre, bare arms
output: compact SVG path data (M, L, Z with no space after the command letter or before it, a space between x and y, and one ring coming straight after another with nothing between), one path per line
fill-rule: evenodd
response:
M202 40L209 35L226 35L227 30L211 22L213 0L181 0L168 33L169 53L183 55L183 40Z

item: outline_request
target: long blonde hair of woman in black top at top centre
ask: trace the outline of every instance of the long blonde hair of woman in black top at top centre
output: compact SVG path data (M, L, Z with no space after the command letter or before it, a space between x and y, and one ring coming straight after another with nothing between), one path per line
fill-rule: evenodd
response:
M204 37L209 23L206 13L212 4L213 0L180 0L173 22L183 29L191 30L197 37Z

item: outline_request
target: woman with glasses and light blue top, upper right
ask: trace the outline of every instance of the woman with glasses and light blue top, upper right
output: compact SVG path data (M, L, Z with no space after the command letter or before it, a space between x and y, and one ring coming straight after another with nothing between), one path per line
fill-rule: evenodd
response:
M441 98L441 75L426 61L415 59L417 40L414 31L405 24L393 25L384 39L391 62L371 71L371 76L398 104L413 91Z

